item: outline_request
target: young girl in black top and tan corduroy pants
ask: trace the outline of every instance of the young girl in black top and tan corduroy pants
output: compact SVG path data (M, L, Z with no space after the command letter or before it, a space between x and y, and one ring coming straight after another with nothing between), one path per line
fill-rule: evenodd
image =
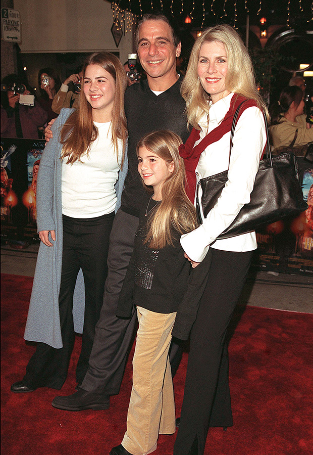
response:
M169 362L171 332L189 275L179 239L196 225L185 190L179 136L152 132L137 146L138 171L147 195L135 248L119 298L117 315L137 307L139 329L133 358L133 388L127 431L110 455L144 455L160 434L175 432L174 392Z

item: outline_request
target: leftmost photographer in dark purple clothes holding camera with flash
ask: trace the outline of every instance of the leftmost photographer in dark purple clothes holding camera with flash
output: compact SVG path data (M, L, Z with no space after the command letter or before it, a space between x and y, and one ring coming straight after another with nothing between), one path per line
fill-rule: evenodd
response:
M2 138L38 139L38 129L48 119L47 112L34 101L33 106L20 104L21 95L30 90L16 74L2 80L1 136Z

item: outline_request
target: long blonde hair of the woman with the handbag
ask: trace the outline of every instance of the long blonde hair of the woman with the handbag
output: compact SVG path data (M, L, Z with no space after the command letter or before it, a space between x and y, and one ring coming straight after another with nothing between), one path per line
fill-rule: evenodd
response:
M199 121L203 114L210 109L207 94L198 79L198 61L200 48L204 42L219 41L224 44L227 54L228 70L225 86L229 92L255 100L257 106L268 116L267 107L257 92L254 69L242 39L230 25L216 25L204 30L192 48L186 75L181 85L181 94L186 101L188 124L199 129Z

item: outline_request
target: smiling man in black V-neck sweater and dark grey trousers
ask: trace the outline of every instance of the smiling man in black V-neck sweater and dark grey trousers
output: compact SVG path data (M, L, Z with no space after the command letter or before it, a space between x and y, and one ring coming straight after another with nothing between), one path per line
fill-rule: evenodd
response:
M139 139L154 130L171 129L185 142L189 132L184 116L185 102L180 95L182 78L176 72L176 57L181 43L163 15L145 15L138 24L137 53L146 80L131 85L125 94L128 126L129 169L110 237L109 273L89 369L76 393L56 397L53 406L68 411L103 410L110 405L110 395L119 393L136 313L130 320L116 317L119 293L133 251L144 189L137 171L136 146ZM172 355L179 351L172 344ZM175 367L172 365L172 371Z

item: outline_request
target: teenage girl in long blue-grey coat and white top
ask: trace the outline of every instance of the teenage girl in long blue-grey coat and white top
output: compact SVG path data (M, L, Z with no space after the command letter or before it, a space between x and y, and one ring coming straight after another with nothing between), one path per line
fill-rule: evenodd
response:
M41 243L24 335L38 343L23 380L11 386L13 392L60 389L64 384L75 339L73 294L80 269L85 305L83 293L78 294L77 310L84 315L78 384L88 368L102 306L109 236L127 170L127 81L119 59L106 52L88 57L83 74L80 106L62 110L40 161Z

